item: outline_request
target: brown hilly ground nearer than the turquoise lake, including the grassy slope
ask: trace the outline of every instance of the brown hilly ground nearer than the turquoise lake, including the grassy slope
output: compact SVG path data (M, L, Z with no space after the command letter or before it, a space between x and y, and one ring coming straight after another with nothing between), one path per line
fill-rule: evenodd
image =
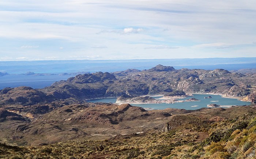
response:
M252 106L146 111L88 103L27 120L1 111L0 157L254 158L255 112Z

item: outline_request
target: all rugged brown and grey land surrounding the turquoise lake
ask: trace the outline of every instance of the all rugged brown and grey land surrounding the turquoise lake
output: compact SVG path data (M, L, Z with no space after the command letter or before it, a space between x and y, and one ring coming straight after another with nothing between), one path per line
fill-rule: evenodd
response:
M87 73L0 90L0 158L255 158L255 74L223 69ZM87 99L222 94L251 106L147 111ZM137 97L142 96L144 97ZM190 99L194 101L196 99Z

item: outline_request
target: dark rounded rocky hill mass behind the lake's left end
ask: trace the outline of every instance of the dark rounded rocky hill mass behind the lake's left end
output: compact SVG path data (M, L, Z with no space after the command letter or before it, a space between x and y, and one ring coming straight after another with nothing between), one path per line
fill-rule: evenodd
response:
M145 95L148 94L149 88L147 84L136 80L117 80L114 75L108 72L97 72L71 77L67 81L56 82L42 91L60 99L72 97L89 100L117 97L123 94Z

